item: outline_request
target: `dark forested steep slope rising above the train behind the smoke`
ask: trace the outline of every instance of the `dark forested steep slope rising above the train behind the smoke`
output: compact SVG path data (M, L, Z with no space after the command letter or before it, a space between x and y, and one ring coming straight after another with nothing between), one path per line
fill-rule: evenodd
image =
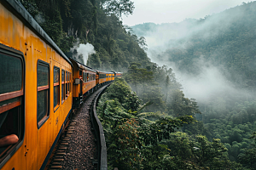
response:
M90 42L96 54L87 65L102 71L126 71L129 63L152 65L143 37L126 31L121 14L132 14L130 0L20 0L44 31L69 57L73 43ZM76 52L74 52L76 53ZM83 57L79 61L84 63ZM84 63L86 64L86 63Z

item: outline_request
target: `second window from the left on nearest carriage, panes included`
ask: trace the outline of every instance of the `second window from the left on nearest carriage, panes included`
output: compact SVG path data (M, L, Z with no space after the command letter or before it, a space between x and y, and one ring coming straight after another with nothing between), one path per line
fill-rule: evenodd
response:
M38 128L49 116L49 65L38 61Z

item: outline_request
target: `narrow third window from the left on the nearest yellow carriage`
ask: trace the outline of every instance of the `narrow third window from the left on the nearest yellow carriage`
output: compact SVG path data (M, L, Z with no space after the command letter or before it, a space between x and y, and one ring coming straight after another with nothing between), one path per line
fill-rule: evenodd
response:
M54 67L54 108L60 105L60 69Z

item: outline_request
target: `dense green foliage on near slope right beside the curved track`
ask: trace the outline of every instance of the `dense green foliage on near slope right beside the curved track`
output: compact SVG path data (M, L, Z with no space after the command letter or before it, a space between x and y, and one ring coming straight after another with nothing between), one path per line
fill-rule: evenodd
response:
M164 112L139 113L140 103L123 79L115 80L99 101L109 169L241 169L229 161L220 139L180 132L183 124L195 123L190 110L172 118Z

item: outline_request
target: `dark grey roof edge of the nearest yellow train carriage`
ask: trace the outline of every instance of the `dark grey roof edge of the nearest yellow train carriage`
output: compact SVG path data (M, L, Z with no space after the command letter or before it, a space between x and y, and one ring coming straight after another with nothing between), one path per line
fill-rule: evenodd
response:
M2 1L2 0L1 0ZM43 30L41 26L38 25L38 22L33 19L32 15L29 14L26 10L26 8L23 7L23 5L20 2L17 2L15 0L3 0L3 2L9 3L9 5L14 8L15 12L20 14L20 16L26 20L26 24L29 26L32 26L32 29L36 31L36 33L44 38L44 41L48 42L49 45L55 49L55 51L61 55L64 59L67 60L67 62L72 65L72 62L67 58L65 54L61 51L61 49L55 44L55 42L48 36L48 34ZM73 66L73 65L72 65Z

